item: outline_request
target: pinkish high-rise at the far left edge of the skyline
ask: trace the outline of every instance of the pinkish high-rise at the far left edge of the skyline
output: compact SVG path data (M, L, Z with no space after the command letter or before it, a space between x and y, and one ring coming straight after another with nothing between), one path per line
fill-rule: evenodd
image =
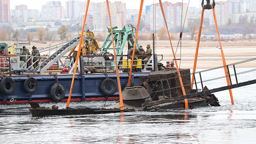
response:
M10 0L0 0L0 22L10 22Z

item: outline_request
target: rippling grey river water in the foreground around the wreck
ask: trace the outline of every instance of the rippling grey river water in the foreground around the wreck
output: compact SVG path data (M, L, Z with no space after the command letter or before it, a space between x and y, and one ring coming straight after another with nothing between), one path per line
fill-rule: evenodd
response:
M250 69L250 68L246 68ZM237 69L237 72L246 70ZM251 68L252 69L252 68ZM224 74L223 69L205 77ZM256 72L240 75L243 82L256 78ZM208 88L226 85L226 79L208 82ZM234 81L233 81L234 82ZM220 107L176 109L161 112L32 117L29 104L0 105L0 143L177 143L241 144L256 141L256 84L214 93ZM66 103L40 103L64 108ZM108 101L107 105L115 104ZM71 102L70 107L102 107L102 101Z

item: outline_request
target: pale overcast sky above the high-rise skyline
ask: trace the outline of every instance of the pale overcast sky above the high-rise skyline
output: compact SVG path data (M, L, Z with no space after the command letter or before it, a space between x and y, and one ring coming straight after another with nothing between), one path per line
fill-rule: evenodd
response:
M15 5L27 5L28 9L37 9L41 11L41 6L45 5L46 2L50 2L54 0L10 0L10 5L11 5L11 10L15 9ZM69 0L55 0L55 1L60 1L61 5L65 8L65 2ZM85 0L80 0L80 1L85 1ZM140 0L109 0L110 2L125 2L126 3L126 8L127 9L139 9L140 6ZM150 5L155 2L159 2L158 0L144 0L143 8L145 8L146 5ZM182 0L162 0L162 2L171 2L171 3L176 3L176 2L182 2ZM215 1L226 1L226 0L215 0ZM106 2L106 0L90 0L90 2ZM184 3L188 3L189 0L183 0ZM202 0L190 0L189 6L195 6L199 7L201 5ZM206 2L205 2L206 3ZM90 6L90 5L89 5Z

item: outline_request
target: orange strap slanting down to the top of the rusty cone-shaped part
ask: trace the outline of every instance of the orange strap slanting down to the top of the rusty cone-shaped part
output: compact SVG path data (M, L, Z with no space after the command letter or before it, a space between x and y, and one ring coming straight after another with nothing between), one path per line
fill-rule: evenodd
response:
M136 41L137 41L138 32L139 32L139 23L141 22L141 13L142 13L143 1L144 0L141 0L141 6L139 8L139 18L138 18L138 24L137 24L136 35L135 35L135 40L134 40L133 57L131 59L131 69L130 69L130 73L129 73L129 78L128 78L127 86L130 86L130 81L131 81L131 72L133 70L132 69L133 68L133 59L134 59L134 53L135 53L135 48L136 48Z

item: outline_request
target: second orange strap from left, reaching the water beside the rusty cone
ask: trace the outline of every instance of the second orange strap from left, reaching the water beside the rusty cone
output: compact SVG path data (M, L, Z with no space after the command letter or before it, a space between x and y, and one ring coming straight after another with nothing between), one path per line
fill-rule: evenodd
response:
M114 44L113 30L112 30L112 24L111 24L111 16L110 16L110 10L109 10L109 0L107 0L107 11L109 12L109 22L110 22L112 43L113 43L113 49L114 49L115 71L117 72L117 83L118 83L118 91L119 91L119 98L120 98L120 109L124 110L121 83L120 83L120 77L119 77L118 66L117 66L117 55L115 54L115 44Z

